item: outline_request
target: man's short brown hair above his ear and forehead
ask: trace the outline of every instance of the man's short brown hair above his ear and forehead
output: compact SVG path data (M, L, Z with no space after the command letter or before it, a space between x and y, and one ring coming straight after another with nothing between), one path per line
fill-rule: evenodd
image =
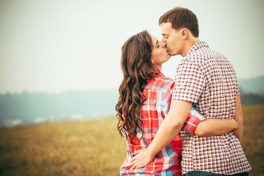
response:
M167 22L170 22L176 31L187 28L194 37L199 37L197 16L187 8L178 6L164 13L159 19L159 25Z

